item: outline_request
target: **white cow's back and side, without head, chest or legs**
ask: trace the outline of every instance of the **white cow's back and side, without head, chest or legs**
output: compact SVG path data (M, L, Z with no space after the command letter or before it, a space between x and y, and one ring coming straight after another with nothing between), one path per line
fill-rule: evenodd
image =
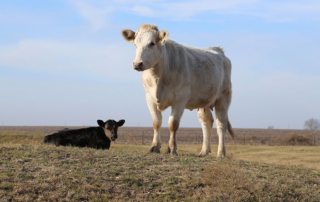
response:
M187 84L190 98L186 108L206 107L231 86L231 63L220 47L194 48L166 42L170 65L166 76L174 78L175 86Z

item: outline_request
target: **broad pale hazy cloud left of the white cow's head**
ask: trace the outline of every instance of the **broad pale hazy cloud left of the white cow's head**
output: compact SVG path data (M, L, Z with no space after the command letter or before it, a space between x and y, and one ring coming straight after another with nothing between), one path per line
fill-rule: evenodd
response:
M134 52L125 45L22 40L15 45L0 46L0 66L64 74L80 70L108 79L132 81L136 79L130 75Z

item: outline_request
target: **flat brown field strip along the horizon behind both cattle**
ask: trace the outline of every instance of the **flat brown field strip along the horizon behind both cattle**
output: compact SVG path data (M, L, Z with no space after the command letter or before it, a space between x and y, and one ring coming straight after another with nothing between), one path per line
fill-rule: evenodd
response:
M85 127L85 126L83 126ZM0 131L24 131L36 133L54 133L66 126L0 126ZM70 129L81 127L68 127ZM285 130L285 129L250 129L234 128L235 140L227 134L225 142L229 145L315 145L320 146L320 130ZM120 144L151 144L153 139L152 127L120 127L117 143ZM169 140L169 128L160 129L161 140L166 143ZM296 137L296 138L294 138ZM178 144L201 144L201 128L179 128ZM212 143L218 143L217 130L212 130ZM295 141L298 140L298 141Z

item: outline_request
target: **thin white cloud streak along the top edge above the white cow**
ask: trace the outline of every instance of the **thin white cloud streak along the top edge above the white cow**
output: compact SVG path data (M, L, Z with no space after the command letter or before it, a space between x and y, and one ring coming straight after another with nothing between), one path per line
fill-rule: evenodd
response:
M167 18L173 20L190 20L203 12L216 12L224 15L254 16L268 21L287 22L303 19L320 20L320 3L309 2L267 2L257 0L210 1L198 0L188 2L151 2L134 5L131 9L136 15Z

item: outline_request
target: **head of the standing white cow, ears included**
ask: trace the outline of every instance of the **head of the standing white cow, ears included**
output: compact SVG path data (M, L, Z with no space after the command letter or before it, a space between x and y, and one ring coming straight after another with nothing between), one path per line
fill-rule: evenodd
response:
M169 33L166 30L159 32L156 25L143 24L137 32L130 29L121 31L123 38L136 46L136 58L133 69L144 71L154 67L162 55L162 47Z

